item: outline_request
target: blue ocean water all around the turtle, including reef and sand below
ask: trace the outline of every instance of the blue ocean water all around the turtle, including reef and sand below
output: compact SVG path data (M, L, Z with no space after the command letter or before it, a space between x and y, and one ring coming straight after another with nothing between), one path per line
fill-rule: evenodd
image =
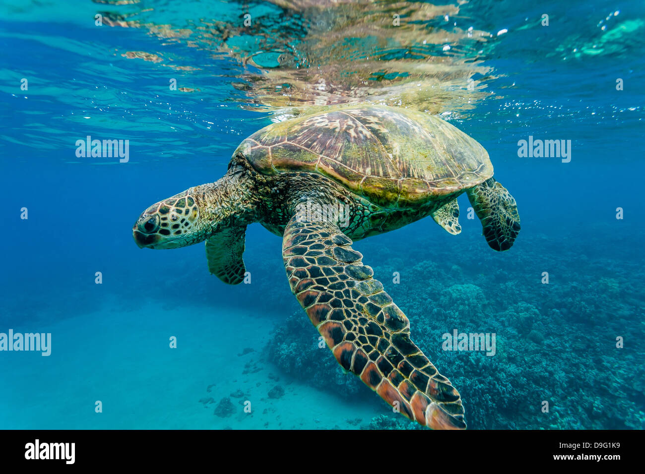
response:
M237 286L208 273L203 244L132 239L147 206L219 179L251 133L345 102L446 119L518 202L508 252L465 195L458 236L423 219L354 244L469 428L645 428L642 2L0 12L0 333L52 341L47 357L0 351L0 428L416 428L318 348L279 237L248 228ZM77 156L88 136L128 140L127 163ZM520 156L530 137L570 155ZM495 333L495 355L443 350L453 330Z

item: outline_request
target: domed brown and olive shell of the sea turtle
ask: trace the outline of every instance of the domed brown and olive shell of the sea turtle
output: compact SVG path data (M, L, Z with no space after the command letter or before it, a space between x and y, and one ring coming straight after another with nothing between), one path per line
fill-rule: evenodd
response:
M387 208L445 201L493 175L484 147L455 126L382 106L340 106L274 123L237 153L265 175L320 173Z

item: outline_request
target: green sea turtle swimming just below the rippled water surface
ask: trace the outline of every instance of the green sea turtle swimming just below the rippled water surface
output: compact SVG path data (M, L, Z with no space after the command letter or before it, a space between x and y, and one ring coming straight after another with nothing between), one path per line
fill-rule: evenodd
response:
M150 206L133 234L141 248L206 241L210 272L237 284L246 226L260 222L283 237L292 291L339 364L423 426L462 429L459 393L352 241L428 215L457 234L463 192L491 248L508 250L517 206L481 144L421 112L336 106L253 133L223 178Z

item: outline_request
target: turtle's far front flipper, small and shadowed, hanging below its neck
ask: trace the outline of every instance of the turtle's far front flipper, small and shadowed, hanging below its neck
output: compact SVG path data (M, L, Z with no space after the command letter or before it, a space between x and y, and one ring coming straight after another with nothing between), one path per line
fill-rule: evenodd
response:
M246 226L225 228L206 239L208 270L224 283L238 284L244 280L244 237Z

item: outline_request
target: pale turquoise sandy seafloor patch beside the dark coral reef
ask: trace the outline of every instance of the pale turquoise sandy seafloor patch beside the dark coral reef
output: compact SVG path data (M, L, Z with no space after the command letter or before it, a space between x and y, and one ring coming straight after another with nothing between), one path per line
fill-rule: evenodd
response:
M39 353L6 353L9 363L0 366L0 379L12 380L5 386L4 400L12 409L0 411L0 426L39 430L353 429L388 411L375 395L373 403L341 400L331 391L317 390L281 373L261 356L273 330L271 318L253 317L243 308L226 306L159 310L154 302L137 311L155 311L155 326L133 318L134 309L87 313L42 326L41 331L56 335L52 344L55 364L47 364L48 358ZM217 319L226 317L235 317L235 324L218 328ZM98 331L97 321L103 322ZM177 336L176 350L169 350L168 334ZM312 326L312 344L316 339ZM152 340L159 343L150 344ZM253 352L244 354L246 348ZM128 359L123 358L124 352ZM321 355L332 357L326 348ZM43 364L22 366L18 359L23 357L42 357ZM21 364L19 371L15 364ZM284 395L269 397L275 386L283 387ZM241 397L238 391L243 392ZM219 417L213 413L223 397L237 411ZM95 400L103 402L103 413L95 413ZM250 400L251 413L244 413L243 400Z

